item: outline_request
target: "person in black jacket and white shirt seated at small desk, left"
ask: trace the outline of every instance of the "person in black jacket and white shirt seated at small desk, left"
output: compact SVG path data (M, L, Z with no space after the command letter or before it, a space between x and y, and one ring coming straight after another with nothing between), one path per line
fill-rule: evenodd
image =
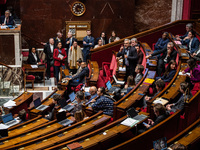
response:
M27 60L28 64L32 64L32 65L40 65L40 58L38 56L38 53L36 51L35 47L31 47L29 49L29 54L28 54L28 60Z

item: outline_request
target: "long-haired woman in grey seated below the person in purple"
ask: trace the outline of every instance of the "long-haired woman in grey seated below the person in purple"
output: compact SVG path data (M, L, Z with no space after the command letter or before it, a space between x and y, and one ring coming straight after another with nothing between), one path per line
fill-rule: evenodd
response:
M182 93L182 96L179 98L179 100L176 103L168 104L166 106L168 113L182 110L184 108L185 101L192 97L192 94L189 91L189 84L186 82L182 82L180 84L180 92Z

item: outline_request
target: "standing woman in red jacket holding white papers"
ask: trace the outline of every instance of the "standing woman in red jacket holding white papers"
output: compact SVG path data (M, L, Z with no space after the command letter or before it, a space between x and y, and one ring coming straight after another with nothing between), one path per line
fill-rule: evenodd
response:
M60 67L64 68L65 63L64 60L67 58L67 54L64 48L62 48L62 43L57 43L57 48L53 51L53 59L54 59L54 70L55 70L55 77L57 83L59 81L59 71Z

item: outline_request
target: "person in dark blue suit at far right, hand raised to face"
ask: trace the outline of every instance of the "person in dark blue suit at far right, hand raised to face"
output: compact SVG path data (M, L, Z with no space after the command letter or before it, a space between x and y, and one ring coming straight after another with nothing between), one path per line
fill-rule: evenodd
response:
M188 53L193 54L199 49L199 40L195 37L196 33L194 31L189 31L188 36L181 40L183 45L187 45Z

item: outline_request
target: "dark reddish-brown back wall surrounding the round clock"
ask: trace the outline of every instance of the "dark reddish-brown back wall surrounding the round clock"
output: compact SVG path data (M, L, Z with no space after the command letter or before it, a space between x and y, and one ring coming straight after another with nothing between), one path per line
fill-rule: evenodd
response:
M89 20L95 38L101 31L107 32L108 37L112 30L116 30L120 37L134 34L134 0L83 1L86 12L80 17L74 16L70 10L75 1L21 0L22 33L37 41L47 41L49 37L55 37L58 30L65 34L65 21Z

